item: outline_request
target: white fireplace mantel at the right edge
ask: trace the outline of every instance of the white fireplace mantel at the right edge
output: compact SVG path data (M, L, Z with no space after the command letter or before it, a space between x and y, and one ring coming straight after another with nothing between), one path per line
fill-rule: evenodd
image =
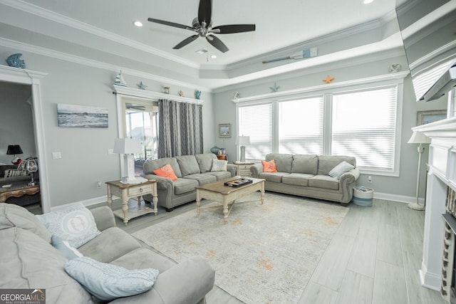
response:
M430 137L421 284L440 290L447 187L456 190L456 117L414 127Z

